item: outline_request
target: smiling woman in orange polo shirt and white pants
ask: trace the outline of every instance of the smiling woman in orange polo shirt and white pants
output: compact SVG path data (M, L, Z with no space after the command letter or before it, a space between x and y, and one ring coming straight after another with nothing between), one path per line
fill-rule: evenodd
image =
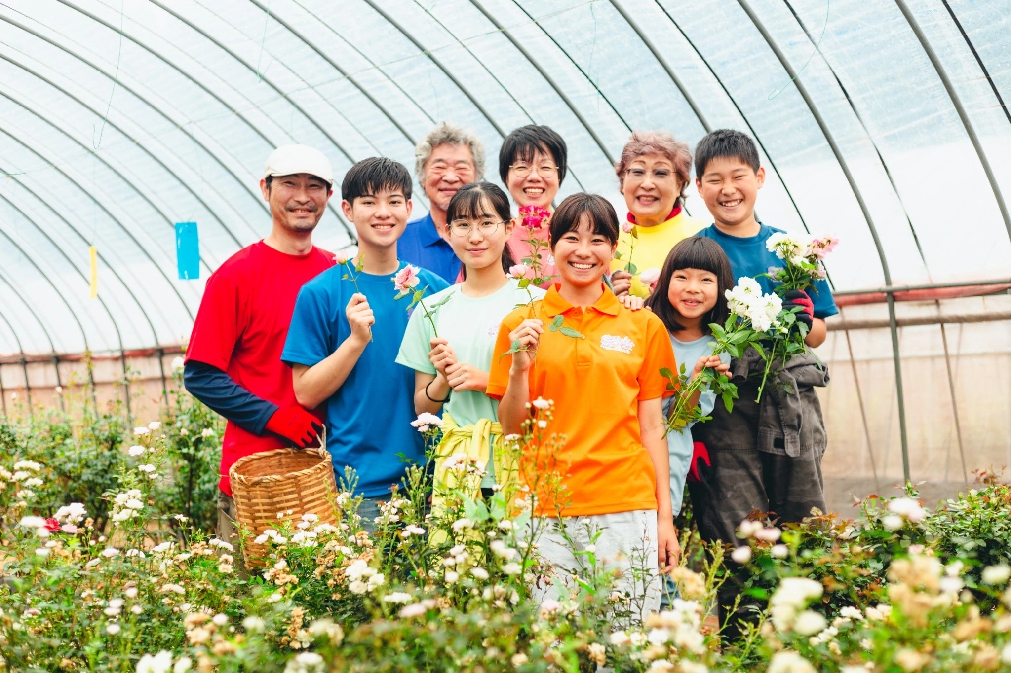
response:
M662 367L675 370L675 362L663 322L624 310L603 283L618 232L618 216L603 197L574 194L561 203L550 229L561 279L502 322L487 394L500 400L507 435L522 432L529 403L553 400L549 432L566 438L557 456L565 465L559 475L565 501L535 502L536 516L561 517L538 540L556 570L556 584L542 599L558 595L559 581L573 586L563 571L584 565L585 554L575 552L593 545L595 558L612 566L656 559L645 568L646 581L632 572L619 580L644 616L660 603L656 568L669 571L680 552L662 412L670 392L660 375ZM510 354L518 341L522 350Z

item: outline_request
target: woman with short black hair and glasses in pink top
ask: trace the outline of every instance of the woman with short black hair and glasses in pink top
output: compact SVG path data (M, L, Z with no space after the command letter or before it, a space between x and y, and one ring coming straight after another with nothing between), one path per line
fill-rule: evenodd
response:
M552 202L565 180L568 149L560 135L547 126L521 126L505 136L498 150L498 175L520 215L509 245L527 277L547 288L557 276L548 243Z

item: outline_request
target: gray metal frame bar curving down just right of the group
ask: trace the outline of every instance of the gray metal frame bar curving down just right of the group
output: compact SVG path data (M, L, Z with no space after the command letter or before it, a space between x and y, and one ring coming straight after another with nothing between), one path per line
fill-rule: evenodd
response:
M775 43L775 40L772 39L772 36L769 34L768 30L765 29L765 26L758 18L758 15L755 14L753 9L751 9L751 6L748 4L747 0L737 0L737 3L741 6L741 9L744 10L744 13L748 15L748 18L751 19L752 24L755 26L758 32L761 33L761 36L764 38L765 43L768 44L770 49L772 49L772 52L775 54L775 58L779 61L779 64L783 66L784 70L786 70L787 74L790 75L791 80L797 87L797 91L801 94L801 97L804 98L804 102L807 104L808 109L811 112L811 115L818 123L818 126L822 131L822 135L825 136L825 140L828 142L829 147L832 149L832 153L835 154L836 161L838 161L839 167L842 169L843 175L845 175L846 177L846 182L849 183L849 188L850 190L852 190L853 196L856 198L856 203L860 207L860 212L863 214L864 220L866 220L867 228L870 231L870 236L874 238L875 247L878 250L878 257L881 260L882 274L885 276L885 283L886 285L891 286L892 273L889 271L888 259L885 256L885 248L882 246L881 238L878 236L878 228L875 226L874 218L870 217L870 211L867 209L867 205L863 201L863 196L860 194L860 190L856 186L856 181L854 180L852 173L849 171L849 165L846 163L846 159L842 155L842 150L839 148L839 145L836 143L835 138L832 135L832 132L829 130L828 124L825 123L824 118L818 111L818 107L815 105L814 100L808 93L808 90L804 86L804 83L801 81L801 78L799 77L798 73L794 70L794 67L790 64L790 61L787 60L786 54L784 54L783 51L779 49L778 45ZM899 403L899 430L902 438L902 468L903 468L903 476L905 477L906 481L909 481L910 480L909 439L906 430L906 403L902 386L902 358L899 354L899 328L895 322L895 296L892 293L888 294L888 307L889 307L889 319L891 322L891 331L892 331L892 356L895 361L895 384Z

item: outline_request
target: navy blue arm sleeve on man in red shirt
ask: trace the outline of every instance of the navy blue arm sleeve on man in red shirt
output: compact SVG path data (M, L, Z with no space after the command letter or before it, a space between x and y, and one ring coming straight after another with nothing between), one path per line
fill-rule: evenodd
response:
M187 362L183 383L194 398L254 435L263 435L267 421L279 409L274 403L241 386L227 373L204 362Z

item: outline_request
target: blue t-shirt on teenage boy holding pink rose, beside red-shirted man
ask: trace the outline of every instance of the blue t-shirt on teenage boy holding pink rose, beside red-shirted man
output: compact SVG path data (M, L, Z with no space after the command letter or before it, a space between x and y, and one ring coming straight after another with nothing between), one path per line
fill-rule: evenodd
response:
M407 265L401 260L399 267ZM330 356L351 335L345 309L355 294L355 284L344 276L347 265L334 266L306 283L298 293L291 327L281 359L288 364L312 366ZM334 459L338 480L351 466L358 475L356 494L366 497L389 494L399 484L406 464L424 461L422 436L415 420L415 371L397 364L396 353L407 328L410 297L395 300L394 273L359 273L358 288L375 314L373 340L365 346L344 384L327 401L327 449ZM421 269L426 297L447 288L441 277ZM420 308L416 305L416 310Z

